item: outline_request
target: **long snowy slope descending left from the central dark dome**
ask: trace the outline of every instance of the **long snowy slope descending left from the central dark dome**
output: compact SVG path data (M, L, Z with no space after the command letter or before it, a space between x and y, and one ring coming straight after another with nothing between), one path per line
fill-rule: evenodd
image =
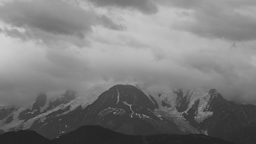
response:
M79 106L84 108L88 104L92 104L100 94L116 84L117 83L95 85L82 94L76 94L74 100L67 100L67 98L65 98L65 93L47 96L44 106L40 106L40 109L38 110L33 110L35 102L24 104L22 106L0 107L0 116L4 117L2 120L0 119L0 130L7 132L15 129L28 129L36 120L43 122L45 117L53 112L57 112L56 116L59 116L67 114ZM124 84L135 85L135 83ZM5 111L9 111L9 113ZM6 123L8 118L12 120Z

